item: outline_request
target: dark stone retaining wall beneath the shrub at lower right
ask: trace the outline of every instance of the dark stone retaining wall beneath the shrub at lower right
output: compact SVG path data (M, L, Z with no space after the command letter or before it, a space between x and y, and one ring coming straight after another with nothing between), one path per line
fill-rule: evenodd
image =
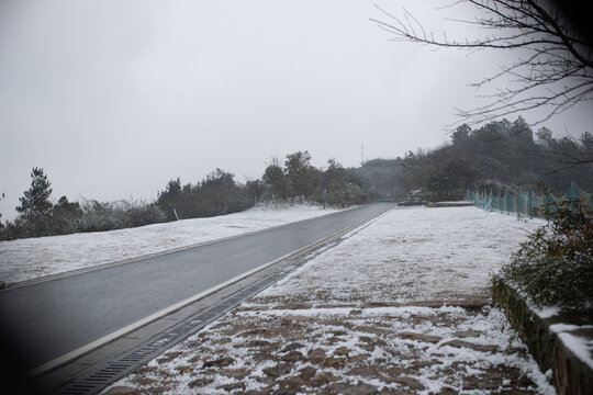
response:
M577 357L558 334L550 330L553 324L583 325L582 316L562 313L541 318L516 291L502 282L492 287L492 297L505 309L511 325L519 332L541 371L551 370L552 384L560 395L593 394L591 366Z

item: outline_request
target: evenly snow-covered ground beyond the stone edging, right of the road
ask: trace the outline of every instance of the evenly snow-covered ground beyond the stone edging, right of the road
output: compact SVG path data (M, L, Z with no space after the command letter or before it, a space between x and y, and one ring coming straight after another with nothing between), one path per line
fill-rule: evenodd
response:
M472 206L395 210L265 294L318 302L327 279L327 303L484 297L492 273L544 224Z

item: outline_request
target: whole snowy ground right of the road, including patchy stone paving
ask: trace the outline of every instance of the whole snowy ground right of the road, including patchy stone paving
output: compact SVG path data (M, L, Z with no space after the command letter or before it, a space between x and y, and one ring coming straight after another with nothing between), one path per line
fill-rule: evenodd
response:
M393 210L105 393L555 394L488 293L542 224Z

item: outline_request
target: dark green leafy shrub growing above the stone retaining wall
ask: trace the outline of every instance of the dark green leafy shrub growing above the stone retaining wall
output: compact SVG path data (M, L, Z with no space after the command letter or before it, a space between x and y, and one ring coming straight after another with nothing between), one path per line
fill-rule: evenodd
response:
M593 307L593 217L577 199L550 203L537 229L494 281L511 281L540 305Z

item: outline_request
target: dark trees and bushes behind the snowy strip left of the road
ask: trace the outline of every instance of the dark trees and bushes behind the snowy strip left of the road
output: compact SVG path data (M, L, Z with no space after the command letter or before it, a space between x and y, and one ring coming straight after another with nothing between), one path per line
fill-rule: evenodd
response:
M0 222L0 239L104 232L156 223L240 212L260 202L314 202L332 206L360 204L372 191L353 169L329 159L327 168L311 165L309 151L272 158L260 179L237 182L235 176L215 169L195 183L171 179L156 200L52 202L52 184L42 168L31 171L31 187L19 199L13 221Z

